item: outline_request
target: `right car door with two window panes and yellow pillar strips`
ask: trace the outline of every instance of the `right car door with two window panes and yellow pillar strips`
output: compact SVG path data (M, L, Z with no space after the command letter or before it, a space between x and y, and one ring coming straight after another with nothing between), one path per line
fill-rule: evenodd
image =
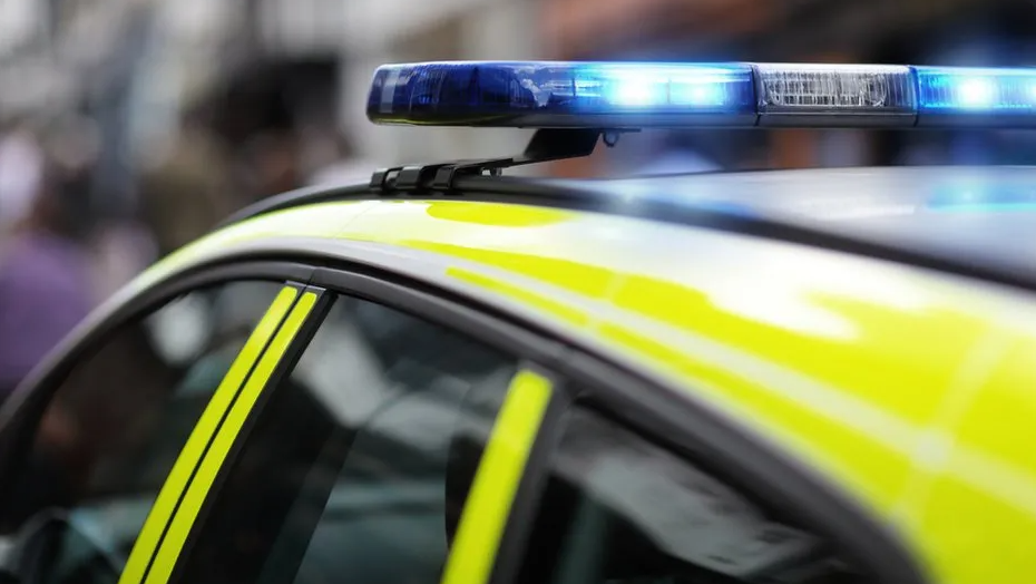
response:
M309 283L146 584L921 582L676 393L462 299Z

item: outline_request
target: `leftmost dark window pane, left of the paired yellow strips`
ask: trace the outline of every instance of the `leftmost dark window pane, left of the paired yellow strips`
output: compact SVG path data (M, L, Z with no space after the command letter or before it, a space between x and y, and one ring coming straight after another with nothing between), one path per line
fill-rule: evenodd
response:
M209 397L282 285L199 289L119 327L57 388L0 542L22 584L114 583Z

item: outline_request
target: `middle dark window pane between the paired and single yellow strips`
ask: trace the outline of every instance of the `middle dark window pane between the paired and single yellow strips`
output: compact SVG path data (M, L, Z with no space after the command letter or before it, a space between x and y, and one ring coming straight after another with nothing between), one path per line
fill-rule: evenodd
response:
M177 582L438 584L510 356L341 296L225 470Z

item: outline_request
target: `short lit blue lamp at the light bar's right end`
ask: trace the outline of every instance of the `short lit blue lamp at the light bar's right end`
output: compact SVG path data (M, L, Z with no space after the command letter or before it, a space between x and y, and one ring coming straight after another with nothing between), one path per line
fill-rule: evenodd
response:
M1036 125L1036 69L916 67L915 70L919 126Z

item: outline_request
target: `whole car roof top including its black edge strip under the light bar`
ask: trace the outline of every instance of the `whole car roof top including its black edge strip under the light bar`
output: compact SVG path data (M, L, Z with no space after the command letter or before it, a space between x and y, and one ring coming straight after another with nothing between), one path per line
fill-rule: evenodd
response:
M705 226L1036 290L1036 167L856 167L561 179L458 175L449 187L306 187L224 225L329 201L463 198Z

